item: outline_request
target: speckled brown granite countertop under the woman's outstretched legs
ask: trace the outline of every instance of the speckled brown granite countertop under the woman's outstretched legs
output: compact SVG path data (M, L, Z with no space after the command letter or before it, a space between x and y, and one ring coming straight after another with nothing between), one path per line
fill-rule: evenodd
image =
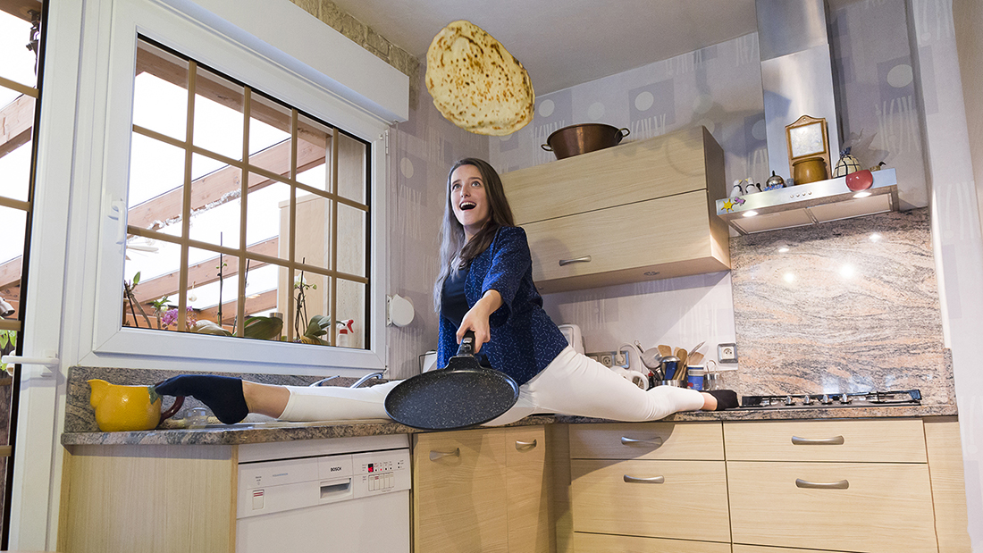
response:
M666 416L662 421L731 421L731 420L802 420L842 418L890 418L956 415L954 405L922 405L867 408L803 408L792 410L731 410L723 412L686 412ZM607 423L603 418L569 415L527 416L509 426L552 423ZM65 432L61 443L73 445L239 445L263 442L312 440L351 436L412 434L423 432L386 419L280 422L257 421L237 424L208 424L205 427L172 427L141 432Z

